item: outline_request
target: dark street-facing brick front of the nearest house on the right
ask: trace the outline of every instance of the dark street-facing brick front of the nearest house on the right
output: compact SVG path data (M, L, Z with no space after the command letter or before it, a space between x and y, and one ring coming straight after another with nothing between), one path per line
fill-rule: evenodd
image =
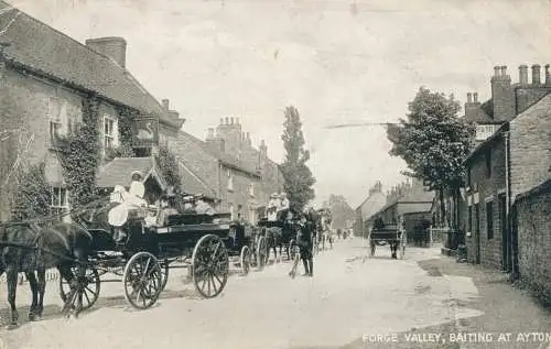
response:
M476 261L477 253L477 229L479 230L480 263L493 269L501 269L503 263L503 238L501 217L499 197L506 189L505 181L505 144L501 138L494 140L487 145L490 151L490 168L488 176L486 166L486 152L480 152L474 156L468 168L471 171L471 188L468 206L472 207L472 231L466 237L467 260L472 263ZM475 204L478 203L479 220L476 221ZM491 203L493 232L494 237L488 237L488 221L486 204ZM468 208L467 208L468 209ZM466 227L468 225L468 211Z

